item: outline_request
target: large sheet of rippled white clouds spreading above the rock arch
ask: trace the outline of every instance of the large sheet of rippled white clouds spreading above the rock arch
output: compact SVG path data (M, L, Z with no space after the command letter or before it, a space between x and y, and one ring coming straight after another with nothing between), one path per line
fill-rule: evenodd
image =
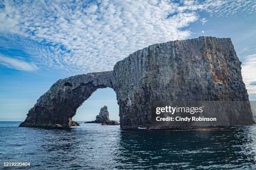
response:
M1 1L1 37L35 53L40 67L86 73L112 70L115 62L148 45L186 39L199 12L232 15L240 0ZM1 4L2 3L2 4ZM247 7L248 6L248 7ZM243 9L252 11L252 5ZM232 11L230 10L232 9ZM200 20L204 24L207 20ZM17 38L18 37L18 38Z

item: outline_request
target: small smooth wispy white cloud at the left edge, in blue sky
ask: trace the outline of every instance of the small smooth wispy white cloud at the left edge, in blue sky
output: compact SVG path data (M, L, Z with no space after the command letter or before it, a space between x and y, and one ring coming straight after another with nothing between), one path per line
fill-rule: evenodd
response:
M22 71L38 70L38 67L33 63L29 63L23 60L18 60L10 57L5 57L3 55L0 55L0 64L15 70L22 70Z

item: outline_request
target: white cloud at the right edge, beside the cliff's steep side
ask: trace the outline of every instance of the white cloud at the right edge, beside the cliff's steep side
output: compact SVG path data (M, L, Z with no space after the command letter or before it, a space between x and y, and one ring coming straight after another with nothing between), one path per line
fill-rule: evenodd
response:
M256 54L246 56L241 67L243 82L246 84L248 93L256 93Z

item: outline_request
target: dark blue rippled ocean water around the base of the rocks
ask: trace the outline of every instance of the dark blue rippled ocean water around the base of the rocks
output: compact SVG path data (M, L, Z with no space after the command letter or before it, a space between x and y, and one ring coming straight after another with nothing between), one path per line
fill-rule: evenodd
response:
M256 169L256 126L188 131L120 130L85 124L70 130L0 122L0 169ZM3 167L30 162L30 168Z

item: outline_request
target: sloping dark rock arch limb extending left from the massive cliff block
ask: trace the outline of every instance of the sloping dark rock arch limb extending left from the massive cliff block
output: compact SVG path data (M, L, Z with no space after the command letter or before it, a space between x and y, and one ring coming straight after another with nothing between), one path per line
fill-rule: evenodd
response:
M55 82L20 126L70 127L77 108L98 88L113 88L113 71L75 75Z

